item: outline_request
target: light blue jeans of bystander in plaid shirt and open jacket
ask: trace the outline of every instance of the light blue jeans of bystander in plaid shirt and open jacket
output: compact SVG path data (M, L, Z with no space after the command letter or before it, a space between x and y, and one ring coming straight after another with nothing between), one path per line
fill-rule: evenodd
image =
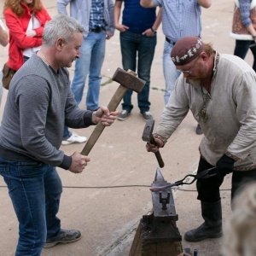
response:
M90 32L84 38L80 57L76 60L71 90L77 104L82 101L84 84L89 73L88 91L85 105L89 110L99 107L102 64L105 57L106 35L104 32Z

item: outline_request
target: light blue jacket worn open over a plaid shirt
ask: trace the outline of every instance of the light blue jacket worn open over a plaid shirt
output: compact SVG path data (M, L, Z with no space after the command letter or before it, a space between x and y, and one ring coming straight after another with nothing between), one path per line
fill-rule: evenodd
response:
M103 18L107 24L106 33L114 32L113 26L113 0L104 1ZM57 0L57 9L59 14L67 15L67 4L70 3L70 15L84 26L84 38L89 33L90 7L91 0Z

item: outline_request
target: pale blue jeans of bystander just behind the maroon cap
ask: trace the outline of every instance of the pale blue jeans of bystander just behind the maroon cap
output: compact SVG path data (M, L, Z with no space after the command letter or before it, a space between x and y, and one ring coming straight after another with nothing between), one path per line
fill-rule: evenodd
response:
M166 92L165 92L165 105L168 103L170 96L172 95L172 90L174 90L174 85L180 72L177 71L172 58L171 58L172 44L165 42L164 54L163 54L163 68L164 76L166 79Z

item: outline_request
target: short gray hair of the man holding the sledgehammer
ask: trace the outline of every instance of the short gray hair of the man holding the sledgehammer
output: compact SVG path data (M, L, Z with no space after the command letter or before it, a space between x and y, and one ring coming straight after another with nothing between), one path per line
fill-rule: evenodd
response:
M56 15L44 27L43 44L45 46L52 46L58 38L63 38L68 43L72 40L75 32L84 32L84 27L73 17Z

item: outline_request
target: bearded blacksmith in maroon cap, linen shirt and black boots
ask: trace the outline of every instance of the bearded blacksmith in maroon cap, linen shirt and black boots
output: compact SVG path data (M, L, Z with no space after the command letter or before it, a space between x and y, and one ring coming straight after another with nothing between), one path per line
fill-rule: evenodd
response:
M204 132L197 173L217 166L217 175L196 183L204 223L184 236L202 241L223 234L219 187L224 176L233 172L232 199L256 179L256 74L241 58L218 54L198 37L178 40L171 57L182 75L161 114L154 135L158 146L148 143L147 149L163 147L191 110Z

